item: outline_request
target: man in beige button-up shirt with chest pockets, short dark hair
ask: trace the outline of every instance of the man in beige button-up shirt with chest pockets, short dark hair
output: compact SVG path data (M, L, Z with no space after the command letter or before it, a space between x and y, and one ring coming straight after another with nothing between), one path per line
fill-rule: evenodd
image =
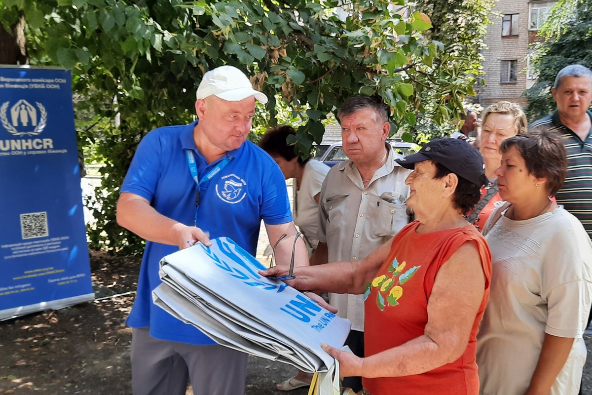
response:
M356 95L346 99L337 117L349 160L333 166L323 182L319 243L311 265L364 259L410 219L405 204L410 171L395 162L401 156L386 143L391 129L387 105L378 97ZM337 314L352 322L346 345L363 357L363 296L329 297ZM343 387L358 393L362 380L345 378Z

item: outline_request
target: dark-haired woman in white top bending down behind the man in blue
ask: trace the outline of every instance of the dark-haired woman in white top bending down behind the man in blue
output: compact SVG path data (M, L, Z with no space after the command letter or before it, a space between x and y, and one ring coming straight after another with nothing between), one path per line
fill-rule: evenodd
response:
M288 145L288 136L296 131L288 125L266 131L259 141L259 147L269 154L284 174L285 179L294 178L294 223L303 233L304 241L312 258L318 245L318 199L321 185L329 172L329 166L316 159L302 159L294 153L294 146ZM291 391L310 386L312 374L299 371L294 377L276 385L280 391Z

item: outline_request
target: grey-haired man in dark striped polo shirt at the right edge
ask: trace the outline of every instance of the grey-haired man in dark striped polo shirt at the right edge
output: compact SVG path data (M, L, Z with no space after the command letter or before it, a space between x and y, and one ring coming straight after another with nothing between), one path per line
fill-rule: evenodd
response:
M567 175L555 198L580 220L592 239L592 71L582 65L565 66L557 73L551 93L557 109L530 129L551 127L563 137ZM592 311L588 325L591 319Z

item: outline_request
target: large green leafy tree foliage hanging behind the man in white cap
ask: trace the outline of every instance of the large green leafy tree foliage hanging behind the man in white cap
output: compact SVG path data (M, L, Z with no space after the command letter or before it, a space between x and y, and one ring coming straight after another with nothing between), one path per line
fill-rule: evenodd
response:
M403 0L363 0L335 15L332 0L4 0L0 17L14 23L24 12L31 63L72 69L75 94L84 98L79 120L104 120L79 130L88 155L107 164L92 245L139 251L139 239L114 222L118 185L144 134L194 119L206 70L246 70L270 97L254 129L294 125L303 158L354 94L381 95L393 129L418 141L439 133L426 120L447 123L472 92L491 2L431 0L420 2L422 14ZM403 8L395 12L395 3Z

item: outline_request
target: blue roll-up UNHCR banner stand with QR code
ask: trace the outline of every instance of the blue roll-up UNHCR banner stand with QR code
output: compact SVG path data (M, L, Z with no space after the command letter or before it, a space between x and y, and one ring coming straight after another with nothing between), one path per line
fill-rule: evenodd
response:
M95 297L71 80L0 67L0 320Z

